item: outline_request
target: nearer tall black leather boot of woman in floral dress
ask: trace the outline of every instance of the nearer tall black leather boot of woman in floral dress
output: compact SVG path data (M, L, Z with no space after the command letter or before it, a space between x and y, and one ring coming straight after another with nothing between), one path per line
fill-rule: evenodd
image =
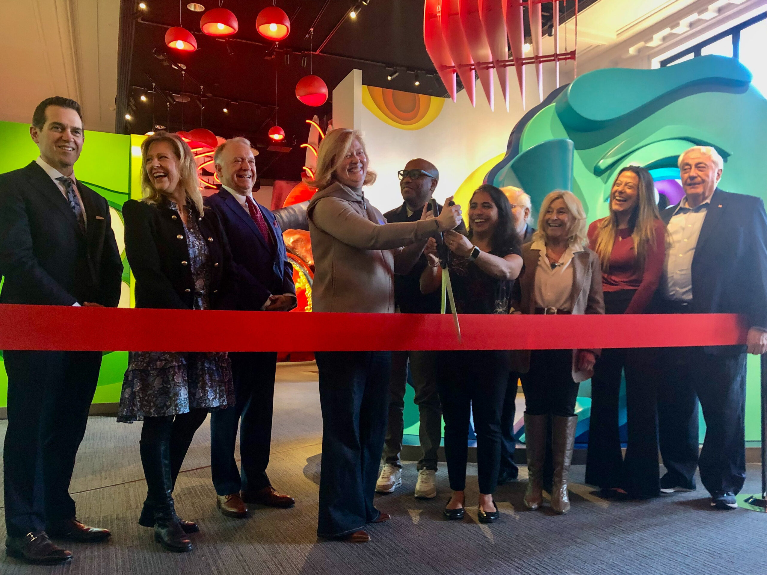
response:
M140 452L146 477L146 503L154 511L154 539L169 551L191 551L192 541L184 532L173 505L170 442L140 442Z

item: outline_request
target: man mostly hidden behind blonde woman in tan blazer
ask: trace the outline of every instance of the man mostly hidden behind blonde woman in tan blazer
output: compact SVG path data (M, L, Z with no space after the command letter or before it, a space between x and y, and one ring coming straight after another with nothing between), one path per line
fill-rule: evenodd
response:
M515 229L519 237L522 238L522 244L532 241L535 228L529 224L532 212L530 196L522 188L515 188L514 186L506 186L501 189L512 205ZM498 485L515 481L519 475L519 469L514 462L514 452L517 446L517 439L514 435L514 419L517 414L516 399L518 385L519 373L512 371L512 373L509 373L509 386L506 386L506 396L503 400L503 411L501 412L501 467L498 474ZM548 445L551 445L550 440ZM550 459L551 457L548 457L547 462ZM553 473L553 468L551 473ZM545 475L551 475L551 473Z

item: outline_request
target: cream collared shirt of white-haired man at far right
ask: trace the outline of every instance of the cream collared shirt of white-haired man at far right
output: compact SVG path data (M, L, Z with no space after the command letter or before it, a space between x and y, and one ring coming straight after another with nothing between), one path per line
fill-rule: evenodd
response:
M690 208L684 197L671 216L667 225L670 245L663 268L663 286L667 299L693 301L693 257L710 203L711 198Z

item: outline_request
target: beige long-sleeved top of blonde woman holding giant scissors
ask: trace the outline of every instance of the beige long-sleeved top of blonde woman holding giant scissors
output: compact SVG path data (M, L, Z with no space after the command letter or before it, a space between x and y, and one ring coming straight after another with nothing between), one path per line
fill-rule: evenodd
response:
M397 255L437 231L433 219L387 224L360 190L339 182L314 194L307 215L314 311L393 313Z

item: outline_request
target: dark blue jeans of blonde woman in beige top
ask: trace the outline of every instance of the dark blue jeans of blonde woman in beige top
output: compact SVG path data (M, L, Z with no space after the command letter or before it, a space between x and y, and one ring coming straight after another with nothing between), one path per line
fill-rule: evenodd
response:
M387 428L391 353L323 351L319 537L342 537L375 521L378 465Z

